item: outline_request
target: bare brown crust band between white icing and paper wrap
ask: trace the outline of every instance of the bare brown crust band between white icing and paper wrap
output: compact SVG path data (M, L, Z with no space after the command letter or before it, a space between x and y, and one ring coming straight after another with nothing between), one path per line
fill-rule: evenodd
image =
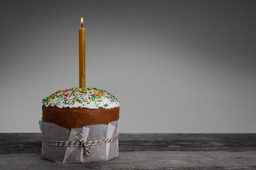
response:
M58 108L43 105L43 122L57 124L67 129L81 128L94 124L108 124L119 120L119 107L112 109Z

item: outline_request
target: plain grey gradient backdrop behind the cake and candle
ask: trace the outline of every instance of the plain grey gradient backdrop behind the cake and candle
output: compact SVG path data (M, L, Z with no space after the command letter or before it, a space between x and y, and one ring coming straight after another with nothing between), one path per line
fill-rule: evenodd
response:
M39 132L41 100L87 86L122 133L255 133L255 1L1 1L0 132Z

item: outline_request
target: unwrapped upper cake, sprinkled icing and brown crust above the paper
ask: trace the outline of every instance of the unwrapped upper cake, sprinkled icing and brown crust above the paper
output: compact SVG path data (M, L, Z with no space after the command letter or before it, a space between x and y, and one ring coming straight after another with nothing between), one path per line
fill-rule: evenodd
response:
M119 102L105 90L70 88L43 99L43 122L67 129L119 120Z

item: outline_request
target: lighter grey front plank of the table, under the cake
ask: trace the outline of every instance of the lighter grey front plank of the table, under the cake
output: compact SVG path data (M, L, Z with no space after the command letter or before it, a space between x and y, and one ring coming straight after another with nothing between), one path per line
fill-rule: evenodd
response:
M4 161L3 161L4 160ZM138 151L120 152L119 157L95 163L60 164L40 154L0 154L0 169L255 169L253 151Z

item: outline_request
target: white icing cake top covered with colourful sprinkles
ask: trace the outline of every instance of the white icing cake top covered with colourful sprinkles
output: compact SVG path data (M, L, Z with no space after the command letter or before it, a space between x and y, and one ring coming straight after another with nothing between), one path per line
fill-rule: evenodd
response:
M89 109L111 109L119 107L116 97L105 90L96 88L68 88L59 90L43 99L46 107L84 107Z

